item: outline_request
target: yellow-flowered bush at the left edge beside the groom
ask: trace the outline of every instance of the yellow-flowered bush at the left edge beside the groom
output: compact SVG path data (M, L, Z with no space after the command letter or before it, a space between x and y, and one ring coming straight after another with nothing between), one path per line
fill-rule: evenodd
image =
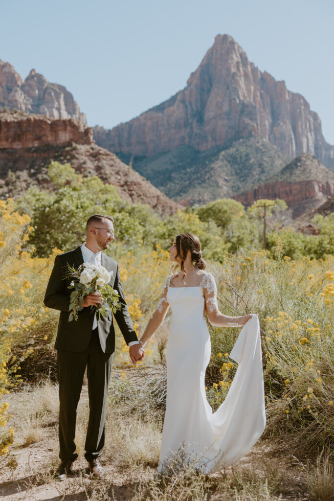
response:
M43 305L56 253L38 259L21 250L29 223L30 217L16 212L11 199L0 200L0 456L14 440L14 430L6 428L6 394L19 379L20 363L52 342L57 322L57 315Z

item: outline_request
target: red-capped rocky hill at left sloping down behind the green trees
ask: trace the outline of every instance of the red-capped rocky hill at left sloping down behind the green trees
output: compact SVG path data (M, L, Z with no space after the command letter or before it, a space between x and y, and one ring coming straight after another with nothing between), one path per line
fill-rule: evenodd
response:
M146 203L159 214L170 215L181 207L114 153L92 142L90 129L78 121L22 115L17 120L1 120L3 115L0 114L1 198L20 196L32 185L51 187L47 168L52 160L57 160L69 162L83 176L99 176L105 183L115 185L123 199Z

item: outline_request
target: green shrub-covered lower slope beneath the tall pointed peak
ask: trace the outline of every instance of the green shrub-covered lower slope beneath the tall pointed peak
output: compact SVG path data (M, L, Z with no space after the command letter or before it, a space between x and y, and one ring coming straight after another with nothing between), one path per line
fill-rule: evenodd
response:
M125 163L131 155L117 153ZM190 146L133 158L132 166L173 200L207 203L258 186L288 161L275 146L250 137L197 151Z

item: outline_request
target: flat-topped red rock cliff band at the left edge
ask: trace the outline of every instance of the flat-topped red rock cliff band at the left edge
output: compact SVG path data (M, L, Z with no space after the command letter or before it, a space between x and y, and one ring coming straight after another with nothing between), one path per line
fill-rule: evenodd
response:
M78 120L52 120L41 115L0 112L0 148L91 144L93 133Z

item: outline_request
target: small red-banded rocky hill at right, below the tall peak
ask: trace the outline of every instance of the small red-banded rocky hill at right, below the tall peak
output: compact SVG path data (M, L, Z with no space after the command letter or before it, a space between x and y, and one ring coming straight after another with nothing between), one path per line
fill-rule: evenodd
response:
M292 210L292 217L316 210L334 196L334 173L309 153L300 155L265 184L233 198L249 206L260 198L280 198Z

